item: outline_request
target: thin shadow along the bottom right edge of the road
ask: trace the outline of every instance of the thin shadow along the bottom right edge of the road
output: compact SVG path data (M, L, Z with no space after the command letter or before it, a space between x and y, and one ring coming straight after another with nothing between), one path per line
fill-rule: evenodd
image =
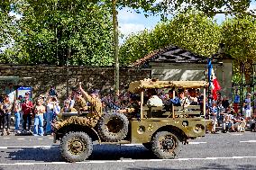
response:
M207 166L197 166L196 168L182 168L182 170L207 170L207 169L213 169L213 170L255 170L255 165L237 165L233 167L223 166L220 164L208 164ZM141 167L141 168L127 168L127 170L180 170L177 168L151 168L151 167Z

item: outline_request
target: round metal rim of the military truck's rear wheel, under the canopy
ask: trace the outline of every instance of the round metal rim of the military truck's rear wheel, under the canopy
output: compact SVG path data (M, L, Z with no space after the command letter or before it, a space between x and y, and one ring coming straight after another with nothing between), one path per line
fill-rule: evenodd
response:
M166 135L160 139L160 149L163 152L173 153L176 146L177 141L172 135Z

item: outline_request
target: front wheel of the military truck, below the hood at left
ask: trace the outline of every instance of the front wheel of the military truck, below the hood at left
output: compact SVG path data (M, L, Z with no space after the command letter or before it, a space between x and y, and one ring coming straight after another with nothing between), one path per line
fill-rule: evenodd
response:
M92 154L93 142L85 132L70 131L61 139L59 148L66 161L81 162Z

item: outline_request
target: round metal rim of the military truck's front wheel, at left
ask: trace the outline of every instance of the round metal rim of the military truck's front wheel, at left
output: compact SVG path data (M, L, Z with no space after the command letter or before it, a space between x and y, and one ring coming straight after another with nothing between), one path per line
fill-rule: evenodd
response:
M86 149L86 144L83 142L82 139L70 139L69 140L69 152L72 155L79 155L83 153Z

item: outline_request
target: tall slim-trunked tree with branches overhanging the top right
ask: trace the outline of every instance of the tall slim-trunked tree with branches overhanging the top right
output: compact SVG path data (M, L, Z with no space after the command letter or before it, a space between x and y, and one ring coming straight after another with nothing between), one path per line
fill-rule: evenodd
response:
M106 4L108 0L104 0ZM115 92L119 92L119 43L118 39L118 22L116 8L131 7L138 13L142 11L149 14L160 14L165 18L166 14L175 13L181 9L187 11L197 9L203 11L207 15L213 16L216 13L246 13L254 14L255 11L247 12L251 0L225 1L225 0L112 0L112 12L114 21L114 58L115 58ZM224 9L224 10L222 10Z

